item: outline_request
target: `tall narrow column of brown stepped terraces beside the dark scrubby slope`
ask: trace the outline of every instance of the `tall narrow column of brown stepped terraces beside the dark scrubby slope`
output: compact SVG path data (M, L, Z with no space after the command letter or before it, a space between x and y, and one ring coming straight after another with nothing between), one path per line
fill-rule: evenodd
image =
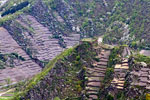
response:
M88 81L86 84L86 95L88 96L88 100L98 99L98 92L101 82L105 77L109 55L109 50L102 50L98 55L100 62L95 62L93 64L94 68L87 68Z

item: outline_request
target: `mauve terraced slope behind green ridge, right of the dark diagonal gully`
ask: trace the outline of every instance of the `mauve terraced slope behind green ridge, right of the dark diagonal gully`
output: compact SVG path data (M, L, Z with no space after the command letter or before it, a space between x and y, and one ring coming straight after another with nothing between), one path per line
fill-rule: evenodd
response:
M53 32L36 21L33 16L25 15L16 21L23 27L30 28L34 31L32 34L26 32L24 35L31 41L31 48L36 51L34 56L40 61L52 60L65 49L60 46L59 39L53 38ZM71 34L69 36L63 36L62 38L67 48L69 48L79 42L80 34Z

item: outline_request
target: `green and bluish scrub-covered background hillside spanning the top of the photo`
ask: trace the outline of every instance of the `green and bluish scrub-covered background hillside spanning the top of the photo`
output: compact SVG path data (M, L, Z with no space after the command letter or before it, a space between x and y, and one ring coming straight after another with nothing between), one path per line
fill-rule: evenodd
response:
M148 49L148 6L148 0L13 0L1 11L5 16L14 12L32 15L59 40L61 47L67 45L63 36L77 33L81 38L105 34L105 43L119 41Z

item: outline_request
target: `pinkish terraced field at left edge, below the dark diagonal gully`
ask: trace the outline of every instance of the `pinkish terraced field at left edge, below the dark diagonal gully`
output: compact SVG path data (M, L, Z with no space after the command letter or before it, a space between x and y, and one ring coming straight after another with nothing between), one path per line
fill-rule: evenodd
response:
M30 78L41 71L41 67L30 59L3 27L0 28L0 52L4 54L17 53L25 59L25 61L14 61L14 68L6 67L6 69L0 70L1 85L5 84L8 79L11 82L18 82Z

